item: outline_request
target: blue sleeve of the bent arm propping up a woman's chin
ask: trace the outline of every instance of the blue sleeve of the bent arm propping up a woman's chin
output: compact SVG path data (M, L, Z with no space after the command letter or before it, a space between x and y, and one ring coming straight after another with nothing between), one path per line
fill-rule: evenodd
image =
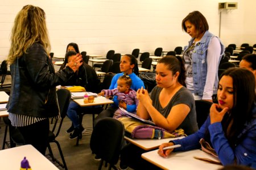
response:
M235 148L230 147L220 122L210 125L209 132L213 148L223 165L236 163L256 167L255 126L244 134L245 137Z

